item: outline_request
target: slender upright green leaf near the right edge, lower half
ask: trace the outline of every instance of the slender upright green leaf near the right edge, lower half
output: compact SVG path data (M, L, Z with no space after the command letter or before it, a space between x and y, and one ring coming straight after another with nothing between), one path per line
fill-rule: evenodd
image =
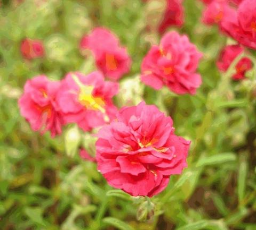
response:
M238 194L238 201L241 203L241 201L244 199L245 194L245 183L246 183L246 176L248 171L248 165L245 160L242 160L239 164L238 169L238 179L237 179L237 194Z

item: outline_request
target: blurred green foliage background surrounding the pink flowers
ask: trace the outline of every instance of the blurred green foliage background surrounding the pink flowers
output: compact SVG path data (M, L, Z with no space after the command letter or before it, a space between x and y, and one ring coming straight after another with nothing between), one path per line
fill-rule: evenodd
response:
M141 61L165 30L164 0L0 1L1 230L256 229L255 67L239 82L220 73L220 50L235 42L202 23L201 1L182 5L183 23L165 29L186 33L204 54L195 96L140 82ZM116 105L142 98L156 104L173 118L176 134L192 141L188 168L151 199L154 211L143 198L111 189L95 163L81 159L81 147L95 154L89 133L70 125L52 139L31 131L19 112L17 100L33 76L59 80L96 69L79 44L98 26L115 33L132 58Z

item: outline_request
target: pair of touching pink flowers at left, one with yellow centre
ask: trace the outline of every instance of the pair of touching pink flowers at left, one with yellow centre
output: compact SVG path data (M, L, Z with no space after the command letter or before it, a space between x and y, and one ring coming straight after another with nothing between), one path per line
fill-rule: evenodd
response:
M49 130L54 137L68 123L89 131L111 121L117 92L118 83L105 81L100 72L69 73L60 82L37 76L25 84L19 107L34 131Z

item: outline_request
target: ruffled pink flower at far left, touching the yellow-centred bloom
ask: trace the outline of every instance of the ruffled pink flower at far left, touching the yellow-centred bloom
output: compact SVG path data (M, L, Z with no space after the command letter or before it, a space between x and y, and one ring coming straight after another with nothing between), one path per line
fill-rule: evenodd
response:
M61 114L55 103L59 82L50 81L46 76L36 76L28 80L19 99L20 112L34 131L51 131L52 137L61 133Z

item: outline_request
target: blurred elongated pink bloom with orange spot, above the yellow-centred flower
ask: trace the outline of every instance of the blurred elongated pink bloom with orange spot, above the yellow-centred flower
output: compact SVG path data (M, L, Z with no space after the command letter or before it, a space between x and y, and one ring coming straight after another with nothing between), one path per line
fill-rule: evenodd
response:
M105 28L95 28L84 36L81 49L90 49L98 68L112 80L118 80L130 71L131 58L118 38Z

